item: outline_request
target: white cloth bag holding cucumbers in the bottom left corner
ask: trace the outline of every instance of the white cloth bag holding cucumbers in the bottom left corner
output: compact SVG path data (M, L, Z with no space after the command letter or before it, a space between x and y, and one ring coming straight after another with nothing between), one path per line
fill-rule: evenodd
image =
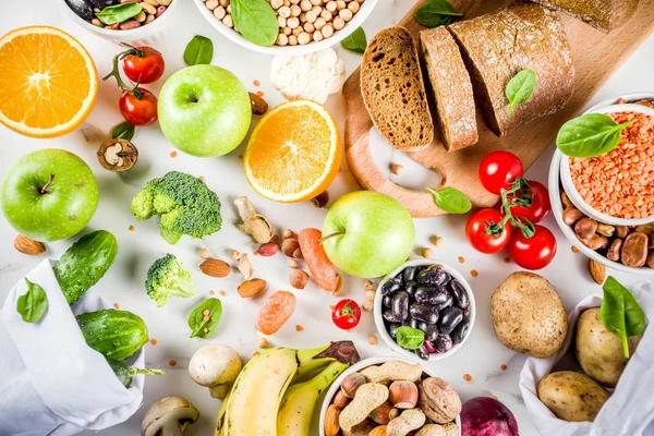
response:
M38 323L23 322L16 301L27 286L21 279L0 311L0 435L68 436L129 419L141 407L144 376L125 389L75 320L109 305L87 293L71 311L49 259L26 277L44 289L48 308ZM134 365L144 361L141 350Z

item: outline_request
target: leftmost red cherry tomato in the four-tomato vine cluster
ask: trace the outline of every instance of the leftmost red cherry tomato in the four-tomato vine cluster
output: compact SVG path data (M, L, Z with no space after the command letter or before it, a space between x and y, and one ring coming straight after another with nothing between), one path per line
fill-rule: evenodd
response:
M504 215L495 209L481 209L468 220L465 237L470 245L479 252L493 254L500 252L511 239L511 225L505 223L501 232L493 234L487 230L491 223L499 223Z

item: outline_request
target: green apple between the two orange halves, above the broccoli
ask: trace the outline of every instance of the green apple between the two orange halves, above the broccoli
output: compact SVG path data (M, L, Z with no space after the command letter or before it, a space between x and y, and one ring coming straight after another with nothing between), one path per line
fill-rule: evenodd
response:
M159 93L161 131L175 147L199 157L222 156L241 144L252 120L245 86L216 65L171 75Z

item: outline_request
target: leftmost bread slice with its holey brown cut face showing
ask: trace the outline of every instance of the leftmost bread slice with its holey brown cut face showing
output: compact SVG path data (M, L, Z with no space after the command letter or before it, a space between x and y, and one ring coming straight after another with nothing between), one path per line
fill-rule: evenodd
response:
M368 43L361 93L375 128L395 148L415 152L434 141L434 123L413 36L389 27Z

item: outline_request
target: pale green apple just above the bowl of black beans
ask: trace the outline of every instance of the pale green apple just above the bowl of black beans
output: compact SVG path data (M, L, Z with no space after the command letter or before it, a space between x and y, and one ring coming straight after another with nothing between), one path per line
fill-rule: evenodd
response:
M329 261L351 276L386 276L402 265L413 247L411 215L395 198L372 191L340 197L323 223Z

